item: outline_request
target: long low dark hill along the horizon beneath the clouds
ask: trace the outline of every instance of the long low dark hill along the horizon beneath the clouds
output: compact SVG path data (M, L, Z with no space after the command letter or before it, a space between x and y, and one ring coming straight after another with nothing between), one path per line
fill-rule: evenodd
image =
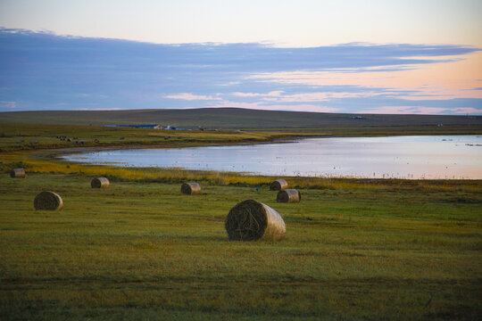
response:
M0 122L75 125L162 124L179 128L360 128L482 126L482 116L342 114L241 108L129 111L7 111Z

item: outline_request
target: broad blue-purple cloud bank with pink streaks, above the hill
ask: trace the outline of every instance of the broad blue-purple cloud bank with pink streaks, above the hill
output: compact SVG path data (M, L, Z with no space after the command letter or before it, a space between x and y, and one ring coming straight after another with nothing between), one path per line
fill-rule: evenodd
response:
M0 29L0 111L480 113L481 62L464 45L156 45Z

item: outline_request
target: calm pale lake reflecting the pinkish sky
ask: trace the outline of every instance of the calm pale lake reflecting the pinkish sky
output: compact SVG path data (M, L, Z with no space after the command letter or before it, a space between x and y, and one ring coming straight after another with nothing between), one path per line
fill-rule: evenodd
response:
M482 136L303 138L283 144L87 152L64 158L261 175L482 179Z

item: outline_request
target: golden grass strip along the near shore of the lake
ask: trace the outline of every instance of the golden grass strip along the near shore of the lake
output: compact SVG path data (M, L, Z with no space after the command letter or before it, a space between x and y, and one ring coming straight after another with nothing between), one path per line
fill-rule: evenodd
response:
M134 180L158 183L182 183L199 181L208 185L270 185L276 177L249 176L239 173L155 168L119 168L115 166L85 165L59 160L37 160L30 153L17 152L0 155L0 169L8 173L12 168L23 167L32 173L62 173L88 176L104 176L112 180ZM420 191L470 191L480 192L479 180L402 180L358 179L328 177L285 177L290 186L312 189L342 190L398 190Z

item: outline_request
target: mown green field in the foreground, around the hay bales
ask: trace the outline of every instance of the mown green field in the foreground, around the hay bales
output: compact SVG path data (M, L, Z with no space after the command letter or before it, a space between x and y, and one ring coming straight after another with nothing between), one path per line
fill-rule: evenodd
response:
M187 196L135 179L93 190L91 178L0 177L1 319L482 316L480 181L340 180L287 204L266 185ZM64 208L33 210L42 190ZM229 242L224 218L251 198L280 212L286 239Z

